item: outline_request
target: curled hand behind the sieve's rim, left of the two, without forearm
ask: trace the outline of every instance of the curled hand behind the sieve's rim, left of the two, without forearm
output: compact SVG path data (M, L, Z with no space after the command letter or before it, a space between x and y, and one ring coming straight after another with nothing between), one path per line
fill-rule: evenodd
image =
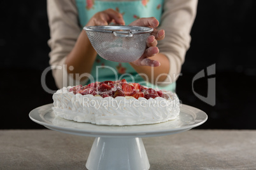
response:
M125 25L121 13L118 13L118 11L115 11L113 9L108 9L98 12L94 16L92 16L86 26L108 25L111 22Z

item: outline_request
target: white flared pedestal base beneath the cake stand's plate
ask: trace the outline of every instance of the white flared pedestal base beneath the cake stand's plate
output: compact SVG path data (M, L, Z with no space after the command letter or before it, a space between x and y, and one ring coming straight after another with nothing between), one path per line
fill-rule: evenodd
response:
M89 170L148 170L150 164L141 138L97 137L86 167Z

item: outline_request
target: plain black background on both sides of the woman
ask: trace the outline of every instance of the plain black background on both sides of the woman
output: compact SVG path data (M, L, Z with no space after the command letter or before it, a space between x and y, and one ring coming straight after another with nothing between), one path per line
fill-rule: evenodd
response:
M256 129L256 1L199 0L176 93L182 103L200 108L208 121L198 129ZM48 67L50 38L46 1L0 3L0 129L41 129L28 114L52 103L41 87ZM193 77L216 64L216 105L199 100L192 91ZM57 90L51 73L48 88ZM196 93L206 96L207 78L194 82Z

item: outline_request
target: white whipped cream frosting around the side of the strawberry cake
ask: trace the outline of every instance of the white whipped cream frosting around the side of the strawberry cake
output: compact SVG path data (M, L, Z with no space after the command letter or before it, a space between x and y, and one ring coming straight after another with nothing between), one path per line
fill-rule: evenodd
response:
M175 93L165 92L165 98L134 98L131 96L81 95L59 89L53 94L55 114L76 122L101 125L155 124L175 119L180 113L180 101Z

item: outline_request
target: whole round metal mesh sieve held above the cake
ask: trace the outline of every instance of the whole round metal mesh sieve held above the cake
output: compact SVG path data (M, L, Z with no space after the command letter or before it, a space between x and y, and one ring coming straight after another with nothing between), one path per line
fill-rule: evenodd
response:
M139 26L84 27L98 55L113 62L133 62L143 55L146 39L153 31Z

